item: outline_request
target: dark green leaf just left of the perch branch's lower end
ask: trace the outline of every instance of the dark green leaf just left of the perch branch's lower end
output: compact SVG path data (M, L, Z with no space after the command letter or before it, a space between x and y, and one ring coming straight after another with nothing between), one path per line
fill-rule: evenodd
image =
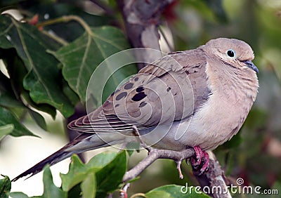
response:
M105 197L122 183L126 172L126 151L119 152L110 164L96 172L97 192L96 197Z

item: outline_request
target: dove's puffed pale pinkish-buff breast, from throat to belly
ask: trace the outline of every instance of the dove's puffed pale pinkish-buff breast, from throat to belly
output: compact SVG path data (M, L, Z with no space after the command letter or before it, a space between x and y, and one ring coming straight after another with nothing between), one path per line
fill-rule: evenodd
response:
M244 123L258 93L256 72L224 69L219 65L210 70L207 65L211 94L207 103L181 124L188 127L180 139L181 144L214 149L232 138Z

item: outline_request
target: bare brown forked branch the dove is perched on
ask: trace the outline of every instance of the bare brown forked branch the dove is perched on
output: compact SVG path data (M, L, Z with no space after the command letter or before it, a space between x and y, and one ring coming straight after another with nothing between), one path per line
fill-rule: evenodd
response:
M195 150L193 148L188 148L183 151L152 149L151 147L148 147L148 145L146 145L141 139L138 127L133 125L132 128L133 134L136 136L136 138L138 138L141 146L148 150L148 157L145 157L145 159L134 166L133 169L127 171L123 177L123 182L126 183L129 180L136 178L136 176L139 176L156 159L173 159L176 161L176 169L178 170L179 178L183 179L183 174L181 173L181 162L183 159L185 159L188 163L187 160L196 155ZM218 164L214 153L211 151L209 151L209 160L209 169L203 173L201 171L201 166L203 166L204 163L198 166L192 166L193 175L195 178L197 178L197 181L200 183L202 189L204 189L204 187L207 187L209 190L211 189L211 191L208 193L211 197L230 198L231 195L226 185L228 180L226 180L226 176L224 175L221 166ZM126 193L125 188L122 190L122 193Z

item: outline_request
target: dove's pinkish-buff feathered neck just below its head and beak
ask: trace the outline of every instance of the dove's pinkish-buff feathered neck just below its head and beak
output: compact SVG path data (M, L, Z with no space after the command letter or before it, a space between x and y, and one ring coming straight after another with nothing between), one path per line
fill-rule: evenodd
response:
M221 95L230 104L242 103L241 105L250 108L256 100L259 81L253 70L210 62L206 73L211 92Z

